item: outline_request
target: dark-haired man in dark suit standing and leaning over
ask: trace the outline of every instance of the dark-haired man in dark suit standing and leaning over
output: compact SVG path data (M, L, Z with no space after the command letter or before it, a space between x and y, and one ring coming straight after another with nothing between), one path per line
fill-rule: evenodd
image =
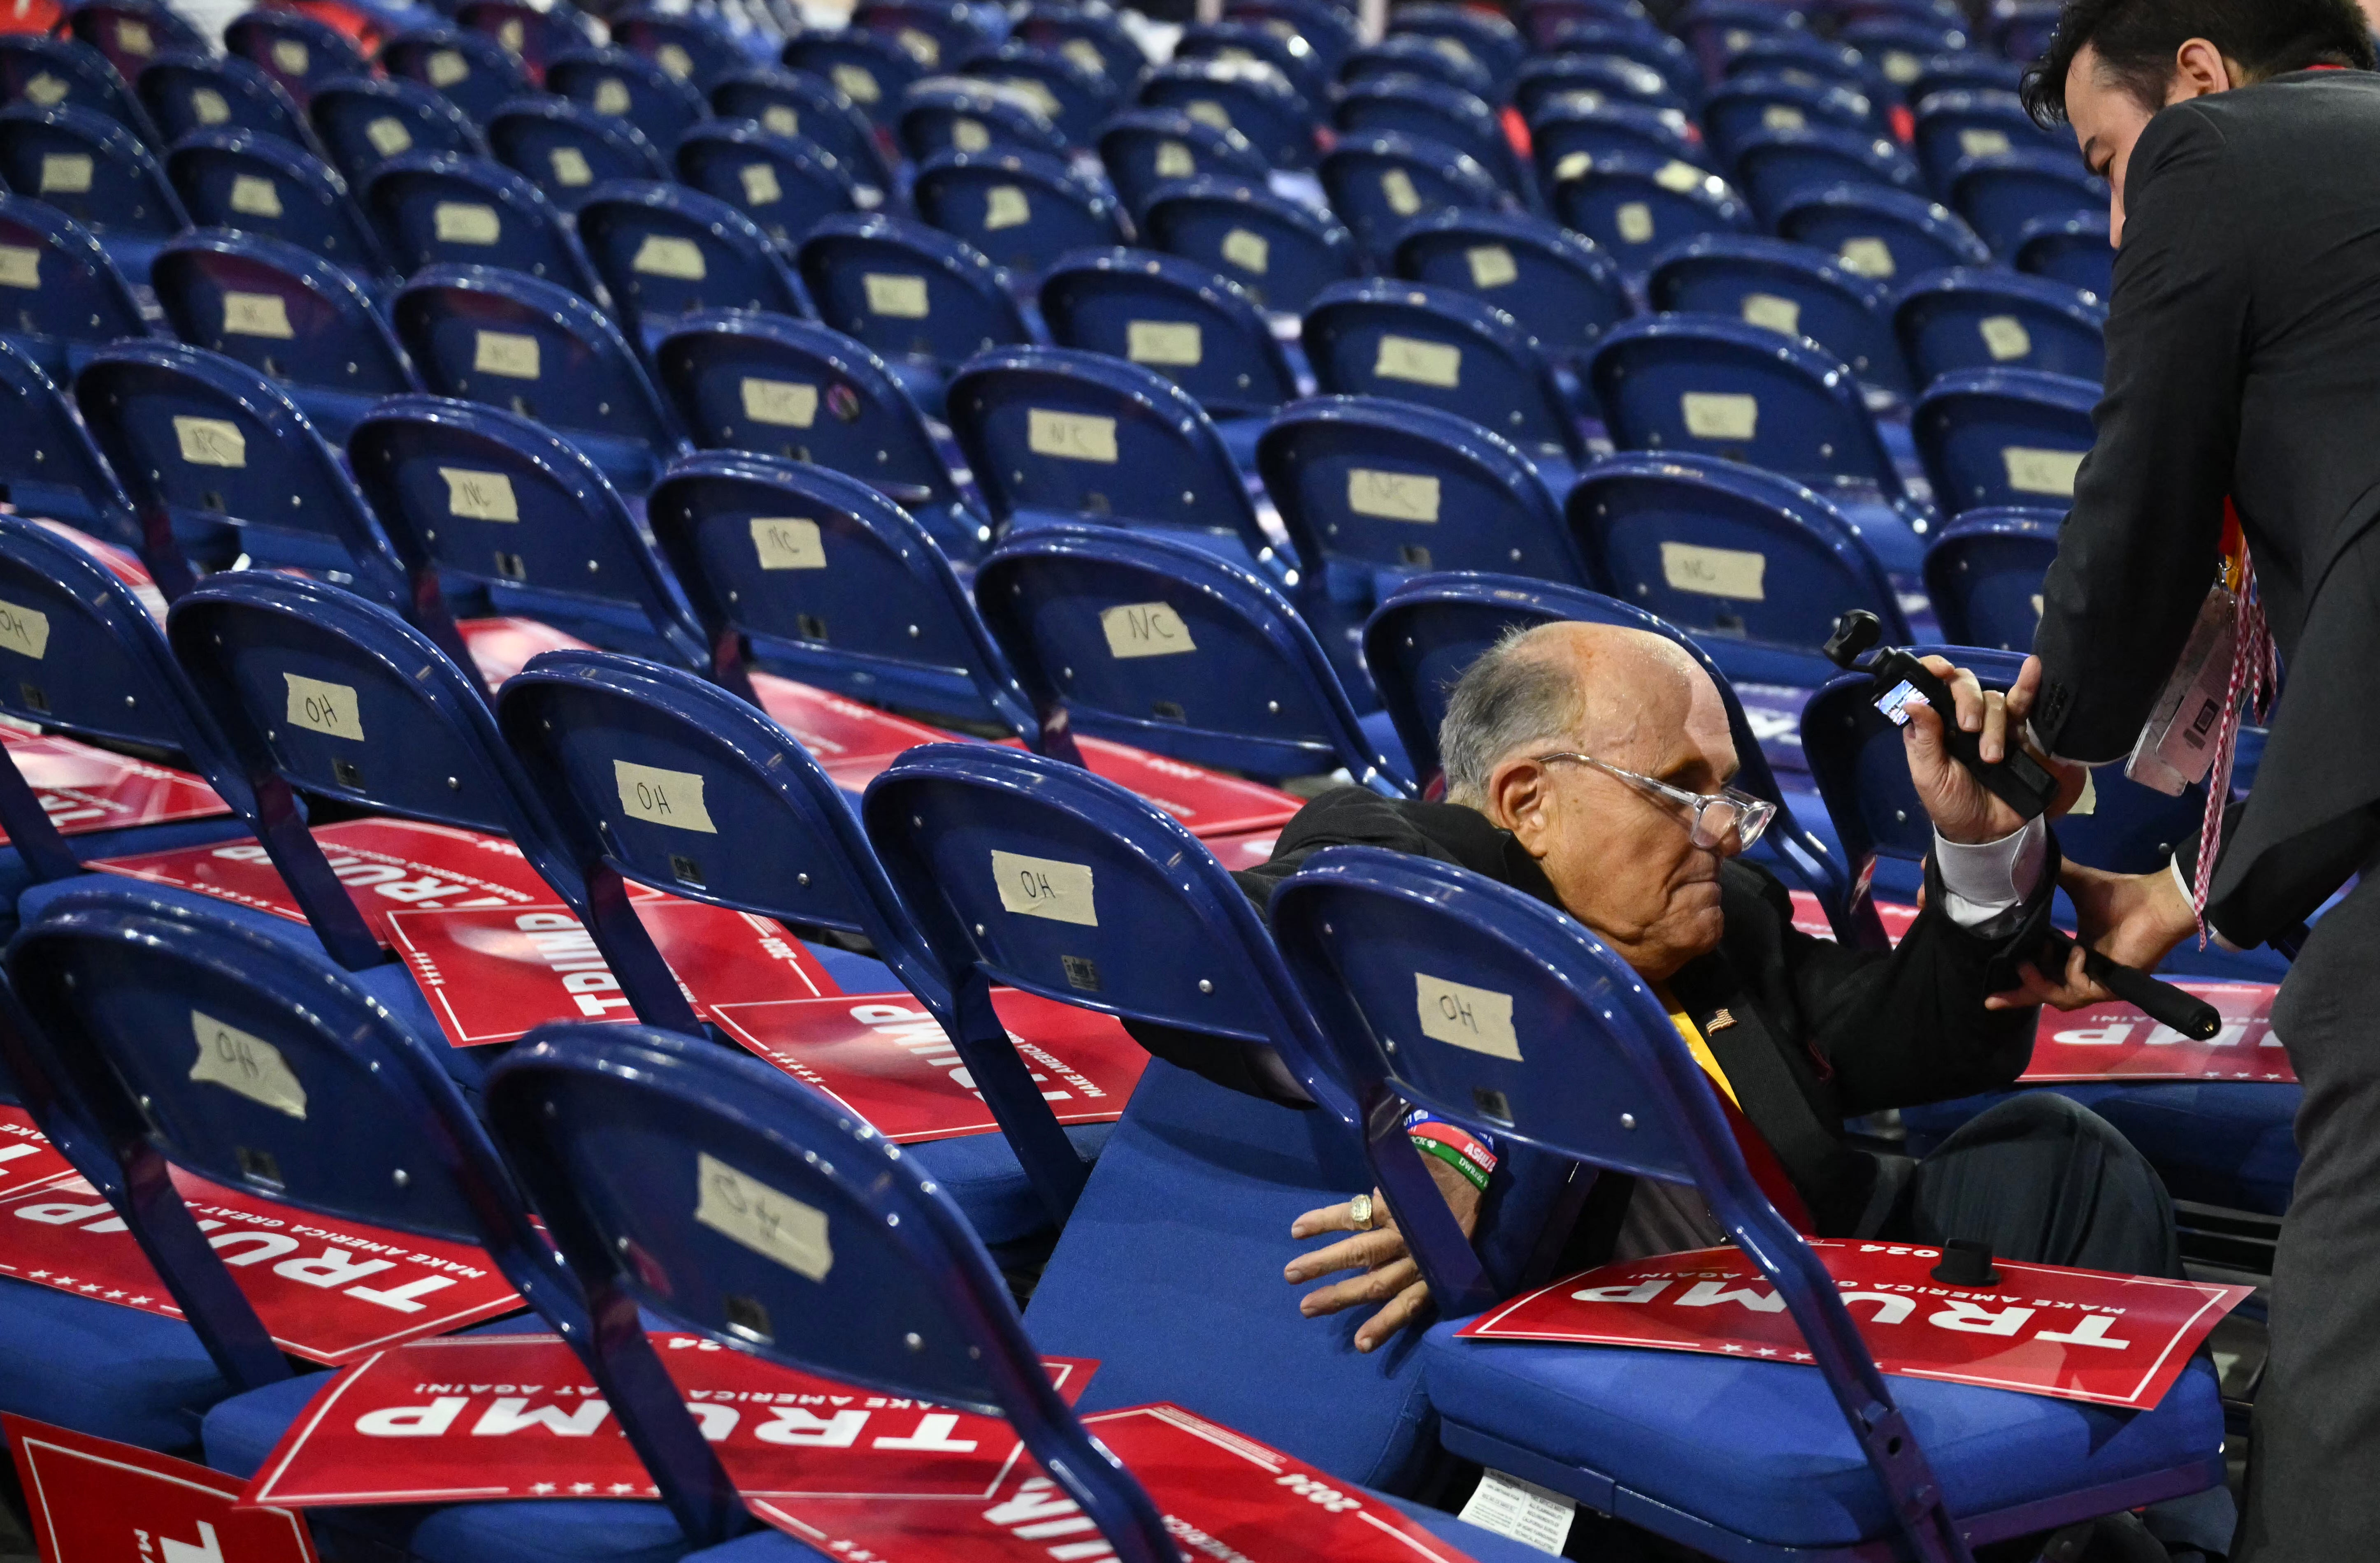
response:
M2273 1025L2306 1085L2237 1558L2330 1563L2380 1534L2380 79L2351 0L2068 0L2025 81L2113 186L2099 440L2042 595L2033 730L2123 759L2182 657L2237 514L2287 668L2209 875L2071 875L2094 942L2154 966L2206 928L2304 944ZM2232 547L2237 561L2240 550ZM2235 564L2237 573L2237 564ZM2244 638L2254 645L2254 633ZM2223 657L2216 666L2230 664ZM2254 673L2240 657L2237 690ZM2221 683L2216 688L2223 688ZM2194 702L2204 707L2204 702ZM2073 975L2073 973L2068 973ZM2082 985L2037 980L2071 1002Z

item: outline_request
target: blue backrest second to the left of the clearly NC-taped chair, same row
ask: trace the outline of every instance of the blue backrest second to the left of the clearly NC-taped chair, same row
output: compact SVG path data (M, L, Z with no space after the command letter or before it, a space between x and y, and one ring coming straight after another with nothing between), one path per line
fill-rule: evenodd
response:
M416 600L438 580L476 583L590 640L707 666L702 630L619 490L543 423L390 397L357 423L347 454Z

